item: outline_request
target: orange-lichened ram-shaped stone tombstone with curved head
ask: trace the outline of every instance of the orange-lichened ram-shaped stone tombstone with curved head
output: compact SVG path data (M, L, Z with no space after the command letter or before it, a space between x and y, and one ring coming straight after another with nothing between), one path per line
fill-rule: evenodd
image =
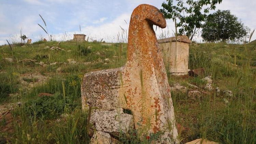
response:
M82 107L130 110L138 133L148 136L162 131L162 142L174 143L178 135L174 108L153 25L166 27L156 7L141 4L133 10L125 66L86 73L81 85Z

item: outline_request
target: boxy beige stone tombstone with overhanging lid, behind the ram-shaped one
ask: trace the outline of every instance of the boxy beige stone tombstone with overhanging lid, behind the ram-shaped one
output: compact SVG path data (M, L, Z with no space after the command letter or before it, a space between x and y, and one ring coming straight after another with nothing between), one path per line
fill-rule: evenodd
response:
M175 75L188 74L189 43L186 35L158 40L166 67Z

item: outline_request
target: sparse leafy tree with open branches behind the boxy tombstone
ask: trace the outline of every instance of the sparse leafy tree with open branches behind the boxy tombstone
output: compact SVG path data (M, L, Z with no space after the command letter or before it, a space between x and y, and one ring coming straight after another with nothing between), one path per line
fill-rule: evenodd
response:
M163 2L163 9L160 11L166 19L175 21L176 27L179 28L179 35L185 34L192 40L202 27L202 21L207 17L207 13L215 10L215 5L221 3L222 0L187 0L185 3L183 0L176 0L176 2L176 5L173 4L173 0Z

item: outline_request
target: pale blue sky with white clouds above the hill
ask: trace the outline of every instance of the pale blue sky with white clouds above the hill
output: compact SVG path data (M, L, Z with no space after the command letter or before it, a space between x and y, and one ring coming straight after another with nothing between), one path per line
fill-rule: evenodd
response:
M161 9L165 0L0 0L0 45L6 39L19 42L20 29L32 42L48 38L37 25L43 24L39 14L46 21L48 32L54 40L72 39L72 34L81 33L89 36L89 40L105 40L116 42L122 39L122 27L127 30L132 10L137 5L146 3ZM223 0L217 9L230 10L240 18L245 26L256 28L255 0ZM174 24L167 20L168 28L157 29L160 33L172 36ZM64 34L66 32L66 34ZM67 35L67 36L66 36ZM126 32L123 34L123 39ZM256 39L256 33L253 40ZM195 40L200 41L200 37Z

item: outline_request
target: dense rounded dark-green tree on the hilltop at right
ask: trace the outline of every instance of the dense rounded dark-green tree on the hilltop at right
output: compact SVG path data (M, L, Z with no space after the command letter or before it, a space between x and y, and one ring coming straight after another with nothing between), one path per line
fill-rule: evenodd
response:
M241 20L232 15L229 10L210 14L202 26L204 41L239 40L248 34L250 29L245 27Z

